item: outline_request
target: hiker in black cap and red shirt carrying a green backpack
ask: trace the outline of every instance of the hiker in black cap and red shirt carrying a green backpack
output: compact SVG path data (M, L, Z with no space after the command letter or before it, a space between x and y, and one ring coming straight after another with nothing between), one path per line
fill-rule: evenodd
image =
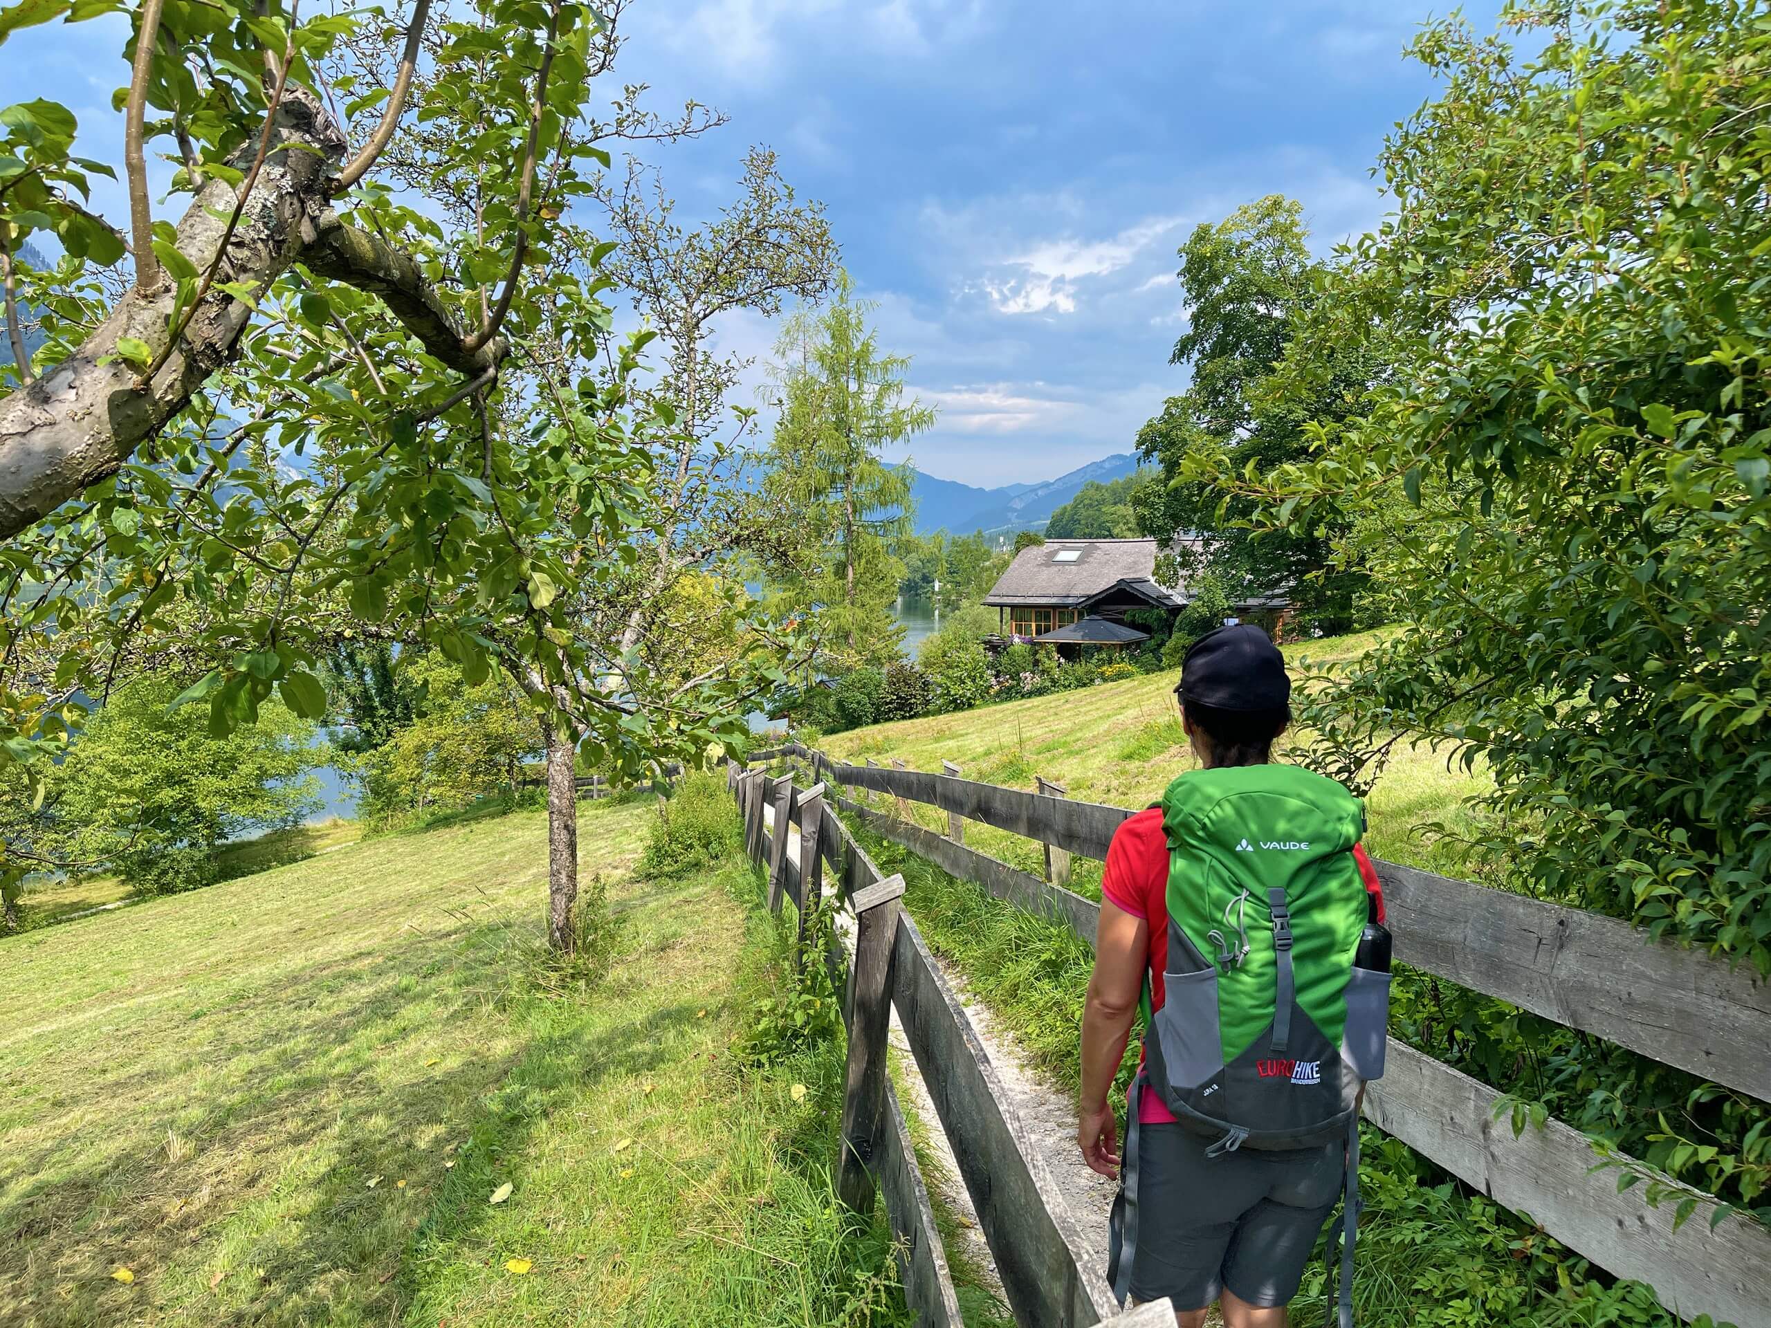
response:
M1181 1328L1213 1301L1227 1328L1282 1328L1344 1193L1351 1328L1358 1107L1390 984L1364 806L1273 763L1291 680L1259 627L1194 643L1176 696L1199 768L1114 834L1082 1016L1077 1142L1119 1176L1107 1094L1146 1011L1109 1280L1121 1303L1167 1296Z

